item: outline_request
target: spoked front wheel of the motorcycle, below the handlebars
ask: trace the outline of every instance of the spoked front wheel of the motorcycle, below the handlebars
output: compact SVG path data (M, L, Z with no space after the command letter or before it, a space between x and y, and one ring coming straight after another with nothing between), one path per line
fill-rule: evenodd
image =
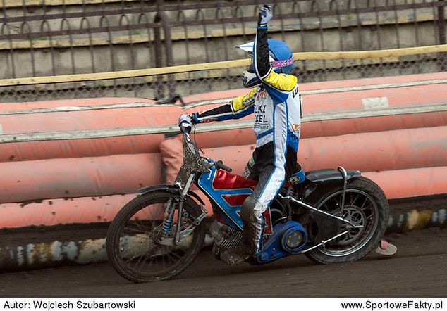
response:
M202 211L192 198L183 203L180 243L169 243L176 235L177 223L174 221L169 229L163 224L166 207L175 199L176 195L165 191L137 196L111 222L106 239L107 256L125 279L135 283L171 279L197 257L203 246L205 227L204 222L193 224ZM177 209L173 220L178 220Z

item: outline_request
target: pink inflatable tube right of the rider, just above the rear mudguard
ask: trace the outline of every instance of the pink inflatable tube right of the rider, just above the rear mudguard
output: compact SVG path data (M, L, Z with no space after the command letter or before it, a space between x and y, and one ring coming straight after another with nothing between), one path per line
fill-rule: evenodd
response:
M342 165L364 172L447 165L447 126L300 140L305 170Z

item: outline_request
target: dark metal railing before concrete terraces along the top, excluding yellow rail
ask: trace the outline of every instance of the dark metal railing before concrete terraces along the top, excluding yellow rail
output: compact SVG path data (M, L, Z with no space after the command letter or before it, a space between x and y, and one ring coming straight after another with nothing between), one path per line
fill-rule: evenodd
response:
M253 39L257 11L265 2L0 1L3 2L0 56L4 60L0 77L6 79L243 58L243 53L235 51L234 46ZM275 15L270 35L286 41L293 51L394 49L446 42L447 1L443 0L269 2ZM356 61L302 60L296 64L294 73L302 82L446 70L445 56L439 53ZM188 72L181 78L160 75L150 84L136 78L85 82L81 87L71 83L51 88L47 84L34 88L34 97L30 97L30 91L17 93L14 88L2 87L0 96L21 101L49 93L56 98L101 94L163 97L179 89L185 94L195 94L204 87L215 90L240 87L241 70ZM147 87L152 87L151 92L138 90Z

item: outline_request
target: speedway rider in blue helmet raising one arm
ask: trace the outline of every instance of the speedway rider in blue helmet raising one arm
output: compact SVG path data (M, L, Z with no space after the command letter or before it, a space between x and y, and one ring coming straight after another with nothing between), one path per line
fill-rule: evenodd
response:
M271 6L259 11L255 42L238 48L252 54L252 65L243 72L243 85L252 88L233 101L192 115L182 115L179 125L238 119L255 113L255 165L250 179L259 179L253 193L241 208L243 239L227 250L221 260L233 265L261 249L264 219L262 212L291 177L297 167L301 107L298 79L289 75L293 66L292 51L284 42L267 39L267 23L273 17Z

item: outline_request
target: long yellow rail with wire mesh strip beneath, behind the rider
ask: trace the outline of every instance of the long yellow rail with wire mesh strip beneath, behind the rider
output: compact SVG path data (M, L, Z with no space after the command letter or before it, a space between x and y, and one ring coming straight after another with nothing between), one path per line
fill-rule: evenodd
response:
M338 70L347 72L350 69L352 70L350 77L354 77L364 72L365 68L369 68L369 77L377 77L383 76L384 66L392 73L396 73L392 71L393 69L399 72L408 71L403 72L404 74L412 73L414 70L412 63L415 62L405 61L405 58L418 57L424 61L426 68L430 64L439 65L440 58L437 56L444 53L447 53L447 44L377 51L301 52L293 53L293 56L298 63L307 63L309 70L307 73L311 72L314 75L317 75L319 70L325 74L328 70L333 70L337 74ZM343 65L342 61L345 62ZM322 62L326 63L326 67L320 67ZM240 88L238 73L249 63L250 59L243 59L165 68L4 79L0 80L0 99L3 102L97 96L157 99L159 92L163 92L164 89L169 93L173 89L182 95L238 89ZM347 63L350 63L352 68L348 67ZM332 68L329 68L329 65ZM295 68L295 74L299 78L305 76L304 69L298 66Z

